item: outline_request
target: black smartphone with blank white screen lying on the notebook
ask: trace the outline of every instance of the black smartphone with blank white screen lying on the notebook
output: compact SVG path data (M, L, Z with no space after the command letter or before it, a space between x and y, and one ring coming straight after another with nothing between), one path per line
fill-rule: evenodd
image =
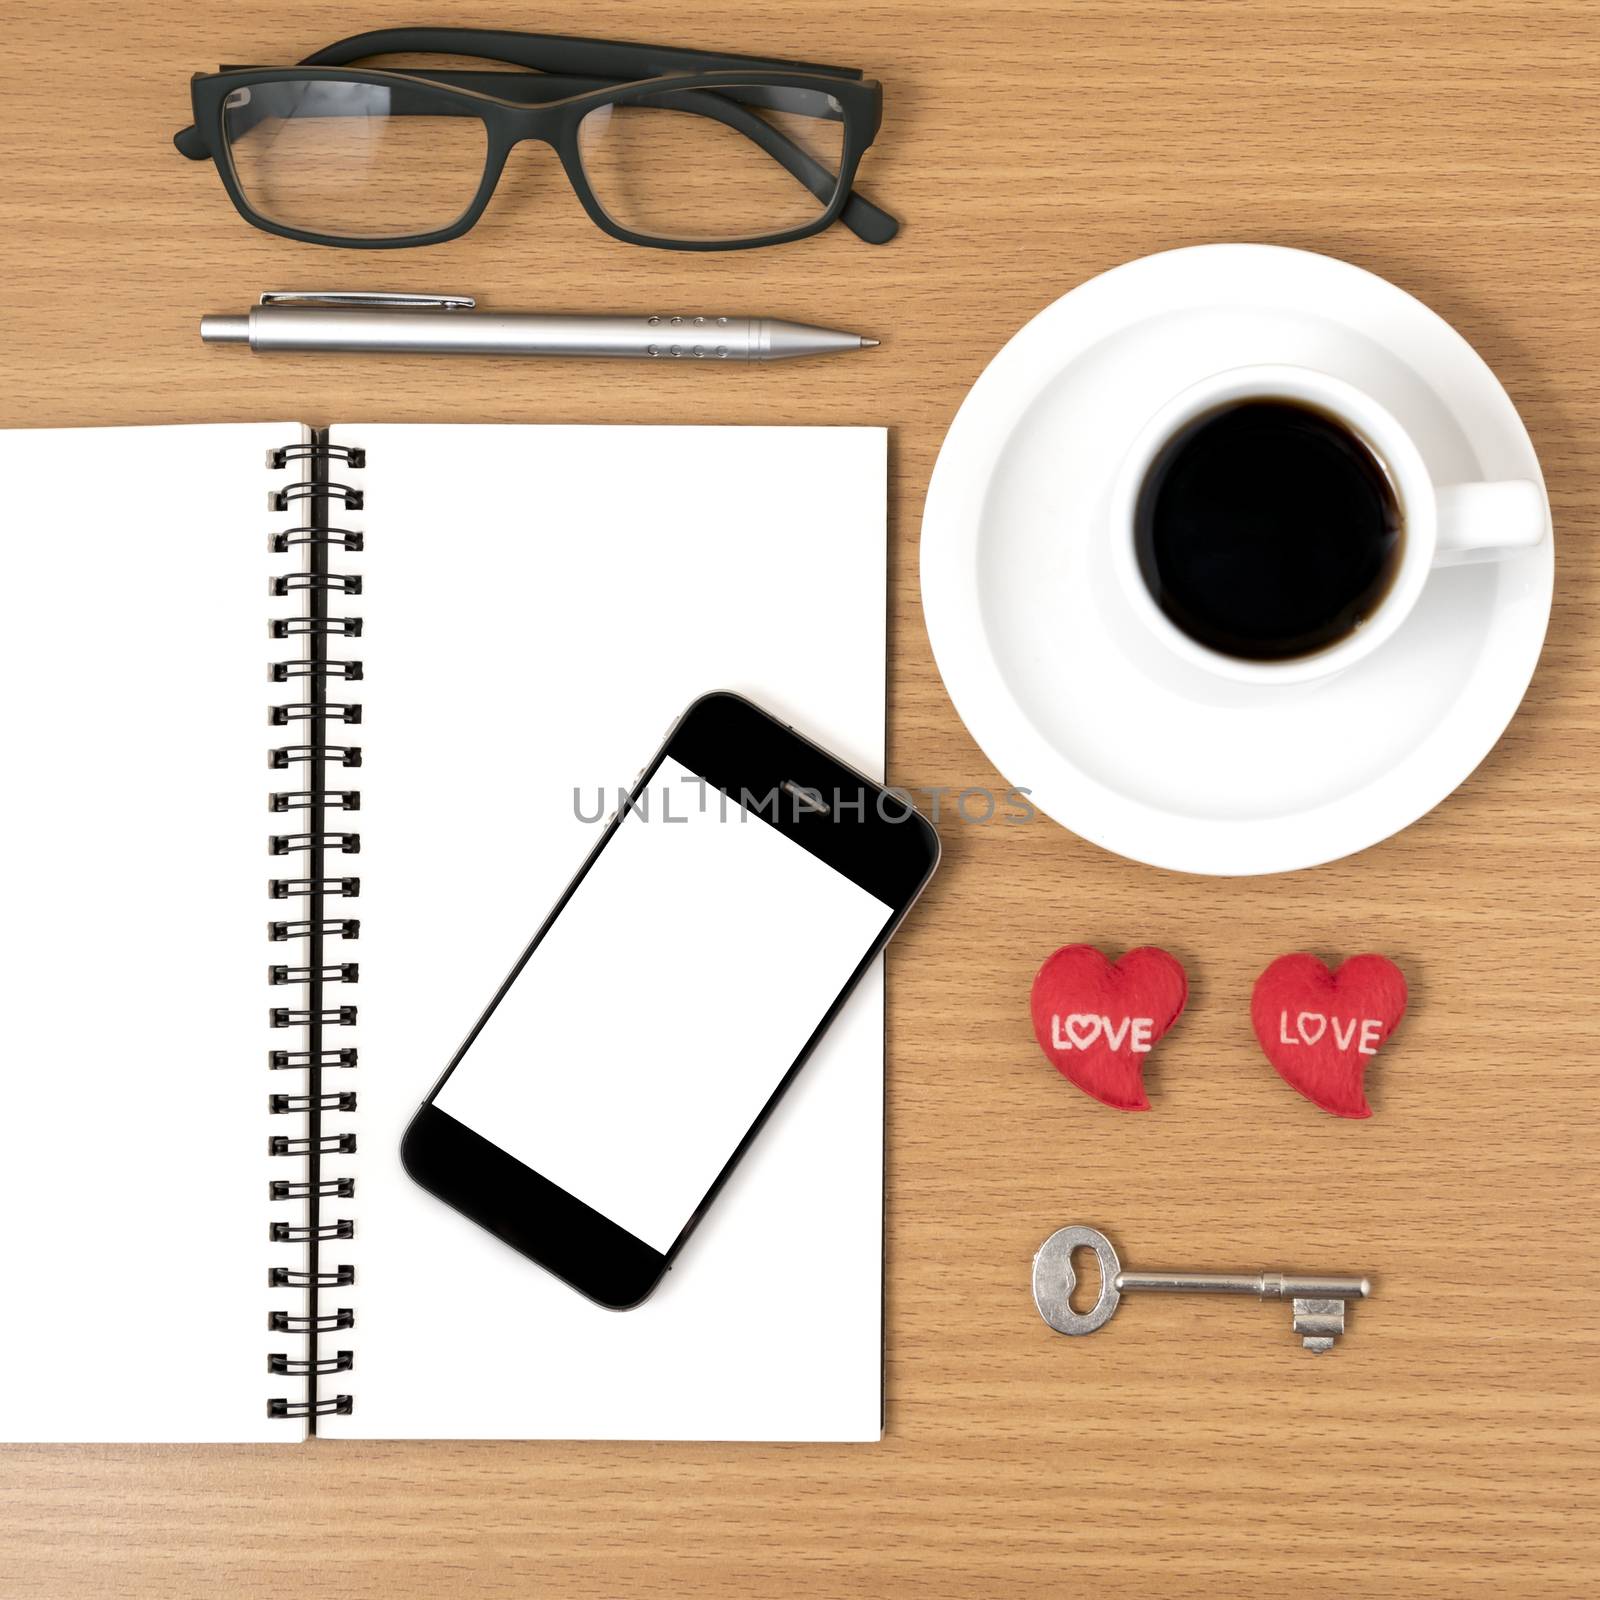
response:
M894 790L738 694L694 701L411 1120L406 1171L637 1306L938 859Z

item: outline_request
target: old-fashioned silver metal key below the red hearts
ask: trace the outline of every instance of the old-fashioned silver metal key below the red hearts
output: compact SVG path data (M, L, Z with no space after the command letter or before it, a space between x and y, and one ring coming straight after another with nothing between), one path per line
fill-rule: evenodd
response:
M1093 1250L1101 1269L1099 1299L1085 1310L1072 1309L1078 1275L1074 1250ZM1123 1294L1154 1290L1160 1294L1254 1294L1258 1299L1294 1302L1294 1331L1307 1350L1322 1355L1344 1333L1344 1302L1366 1299L1366 1278L1285 1277L1282 1272L1123 1272L1110 1240L1093 1227L1058 1229L1034 1256L1034 1304L1056 1333L1094 1333L1110 1322Z

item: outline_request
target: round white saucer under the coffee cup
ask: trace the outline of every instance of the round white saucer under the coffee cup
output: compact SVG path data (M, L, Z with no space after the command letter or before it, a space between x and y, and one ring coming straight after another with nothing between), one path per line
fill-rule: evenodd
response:
M1549 538L1435 571L1392 640L1318 683L1218 690L1149 658L1086 581L1112 474L1168 395L1278 362L1366 389L1438 483L1542 491L1454 328L1370 272L1270 245L1147 256L1040 312L973 386L928 488L922 603L962 720L1040 810L1157 867L1288 872L1398 832L1490 752L1544 642Z

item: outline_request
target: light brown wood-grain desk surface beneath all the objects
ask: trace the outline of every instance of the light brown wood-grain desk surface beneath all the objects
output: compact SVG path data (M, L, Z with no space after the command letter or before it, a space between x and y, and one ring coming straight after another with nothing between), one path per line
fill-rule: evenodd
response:
M944 829L944 872L891 960L882 1445L11 1450L0 1594L1597 1592L1589 0L435 0L400 16L11 0L6 13L0 424L886 422L902 782L997 782L942 691L918 606L917 528L944 429L1019 323L1152 250L1328 251L1454 322L1539 448L1560 586L1499 747L1434 816L1354 861L1211 882L1045 822ZM170 147L190 70L294 59L386 21L861 64L888 101L862 187L904 234L886 250L843 230L744 256L630 250L525 154L467 238L333 254L245 227L214 173ZM885 346L709 373L267 362L197 342L202 310L334 282L499 306L749 309ZM56 602L62 646L91 650L72 637L70 586ZM1152 1115L1101 1110L1034 1048L1029 978L1070 939L1157 941L1189 963L1192 1010L1155 1058ZM1370 1123L1314 1114L1253 1046L1250 982L1302 946L1386 950L1413 981ZM67 1104L62 1118L22 1136L59 1134L69 1170ZM1067 1221L1107 1227L1134 1264L1290 1258L1370 1272L1378 1298L1320 1360L1290 1338L1286 1310L1234 1302L1139 1304L1069 1344L1027 1291L1032 1250ZM37 1285L8 1290L6 1315L43 1312ZM453 1354L472 1358L469 1323Z

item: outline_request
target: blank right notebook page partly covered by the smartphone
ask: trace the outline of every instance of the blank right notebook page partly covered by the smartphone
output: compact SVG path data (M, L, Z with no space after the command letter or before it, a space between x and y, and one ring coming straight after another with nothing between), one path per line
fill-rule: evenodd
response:
M691 699L880 776L878 429L346 426L366 448L357 1282L333 1437L877 1438L883 998L845 1006L654 1296L611 1312L400 1134ZM597 792L606 794L597 806ZM493 1130L480 1128L493 1136Z

